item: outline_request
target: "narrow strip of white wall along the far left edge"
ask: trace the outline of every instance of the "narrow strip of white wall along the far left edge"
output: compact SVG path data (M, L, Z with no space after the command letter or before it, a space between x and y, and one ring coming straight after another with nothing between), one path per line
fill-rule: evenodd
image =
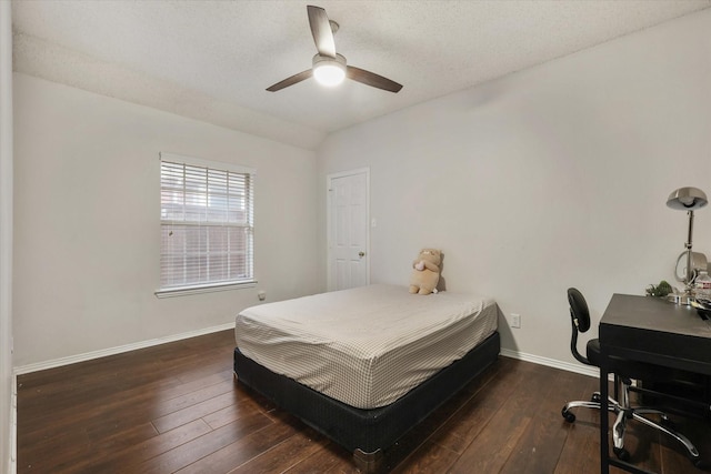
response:
M12 411L12 21L0 2L0 473L14 467Z

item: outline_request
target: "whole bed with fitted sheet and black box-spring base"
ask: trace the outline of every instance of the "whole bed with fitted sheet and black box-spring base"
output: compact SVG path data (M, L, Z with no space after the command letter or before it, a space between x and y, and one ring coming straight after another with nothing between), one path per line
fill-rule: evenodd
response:
M361 471L499 355L489 297L369 285L237 316L240 383L353 453Z

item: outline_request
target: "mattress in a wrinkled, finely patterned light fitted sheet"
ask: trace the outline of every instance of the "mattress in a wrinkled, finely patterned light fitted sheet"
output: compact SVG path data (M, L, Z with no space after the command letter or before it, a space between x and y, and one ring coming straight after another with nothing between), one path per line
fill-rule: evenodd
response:
M359 409L388 405L497 330L492 299L370 285L249 307L237 346L274 373Z

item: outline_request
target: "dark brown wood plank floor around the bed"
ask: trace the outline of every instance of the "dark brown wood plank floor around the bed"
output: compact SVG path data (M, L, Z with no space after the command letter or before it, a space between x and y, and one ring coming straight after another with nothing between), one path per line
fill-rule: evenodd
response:
M18 377L18 473L352 473L351 454L233 380L231 331ZM500 357L404 436L395 473L598 473L597 380ZM702 454L709 425L677 421ZM684 455L631 425L632 461L694 473ZM611 472L620 472L611 470Z

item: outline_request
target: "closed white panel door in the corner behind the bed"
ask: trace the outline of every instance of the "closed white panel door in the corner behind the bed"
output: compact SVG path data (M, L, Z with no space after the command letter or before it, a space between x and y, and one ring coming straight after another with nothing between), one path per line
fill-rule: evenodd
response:
M368 169L328 177L329 291L370 283Z

